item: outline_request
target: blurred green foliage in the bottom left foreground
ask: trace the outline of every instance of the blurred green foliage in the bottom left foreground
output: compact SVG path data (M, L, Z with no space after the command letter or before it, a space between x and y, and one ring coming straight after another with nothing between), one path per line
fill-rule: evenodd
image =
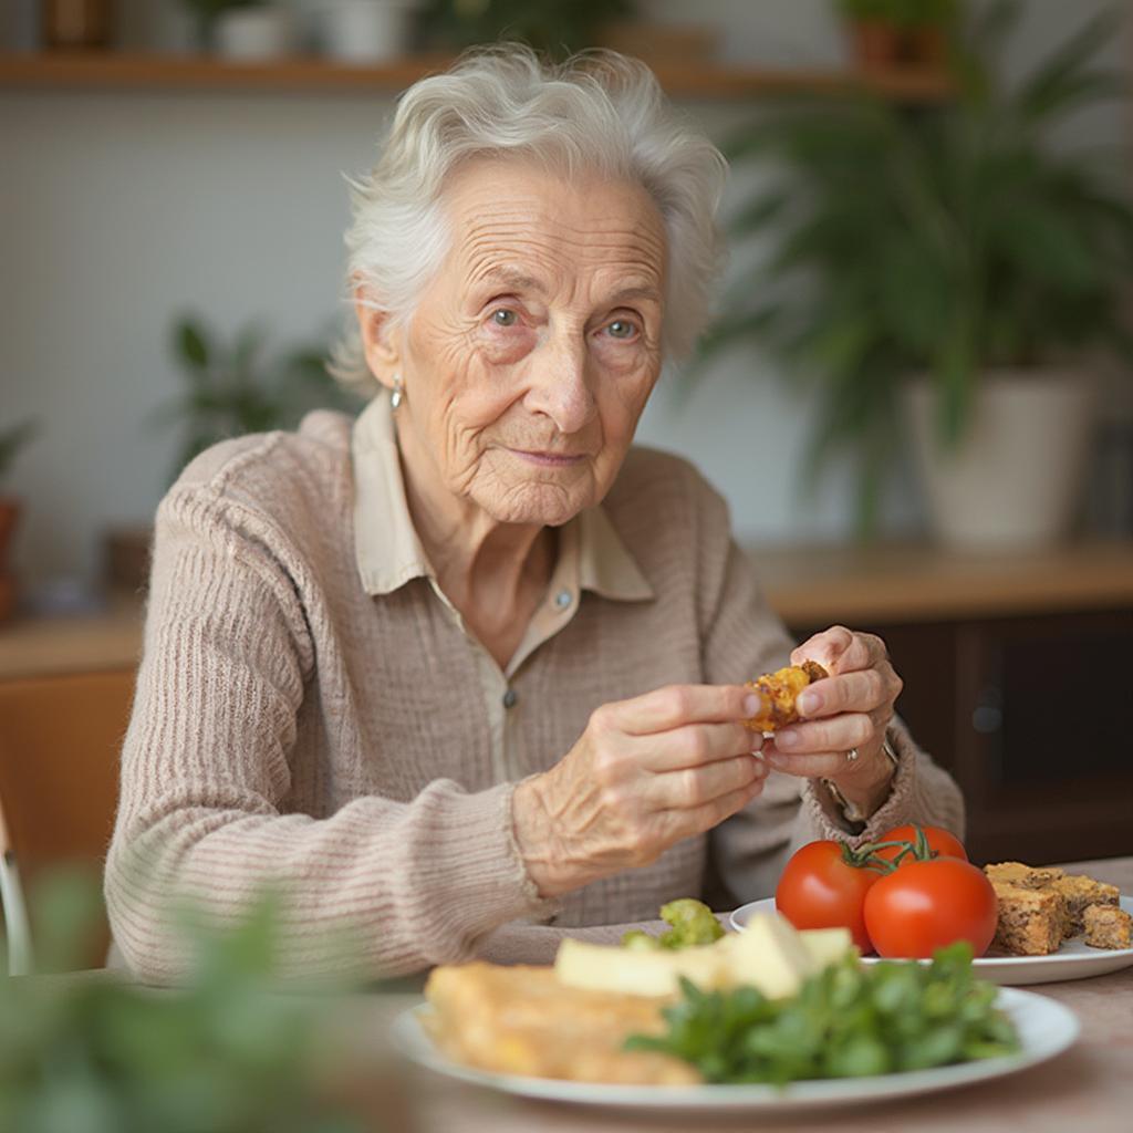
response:
M68 966L96 902L97 891L74 876L39 891L43 969ZM357 1109L361 1064L339 1025L347 989L273 978L278 912L279 900L264 897L225 931L186 919L196 960L177 989L129 986L110 973L0 977L0 1131L374 1128ZM369 1070L377 1070L373 1093L383 1073Z

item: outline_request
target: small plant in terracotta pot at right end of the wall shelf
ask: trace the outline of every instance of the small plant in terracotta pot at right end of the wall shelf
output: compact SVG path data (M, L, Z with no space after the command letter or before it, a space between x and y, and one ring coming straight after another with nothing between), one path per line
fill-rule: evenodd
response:
M937 67L959 0L838 0L837 7L861 67Z

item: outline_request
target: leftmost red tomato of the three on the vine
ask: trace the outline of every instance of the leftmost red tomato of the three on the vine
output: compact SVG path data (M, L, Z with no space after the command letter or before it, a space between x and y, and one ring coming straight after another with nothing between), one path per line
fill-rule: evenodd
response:
M795 928L847 928L862 952L872 952L862 905L879 877L849 862L841 842L809 842L786 863L775 908Z

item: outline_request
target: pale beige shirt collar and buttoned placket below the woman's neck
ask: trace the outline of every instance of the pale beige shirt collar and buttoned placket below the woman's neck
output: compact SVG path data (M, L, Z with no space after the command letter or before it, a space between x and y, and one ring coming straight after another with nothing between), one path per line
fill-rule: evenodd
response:
M509 758L514 742L509 719L518 700L512 678L523 662L570 624L585 591L615 602L645 602L655 597L653 587L602 505L587 508L559 529L559 556L546 597L536 608L519 648L501 670L492 654L469 633L460 612L441 589L414 528L389 398L378 395L358 417L351 435L351 458L355 556L363 588L382 597L410 579L428 581L472 646L495 774L500 782L516 778L519 769Z

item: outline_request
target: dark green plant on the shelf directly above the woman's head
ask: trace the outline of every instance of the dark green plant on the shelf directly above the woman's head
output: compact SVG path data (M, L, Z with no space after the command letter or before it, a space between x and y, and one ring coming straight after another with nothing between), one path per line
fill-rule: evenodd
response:
M432 0L425 26L446 46L522 40L562 56L594 46L603 24L632 12L631 0Z

